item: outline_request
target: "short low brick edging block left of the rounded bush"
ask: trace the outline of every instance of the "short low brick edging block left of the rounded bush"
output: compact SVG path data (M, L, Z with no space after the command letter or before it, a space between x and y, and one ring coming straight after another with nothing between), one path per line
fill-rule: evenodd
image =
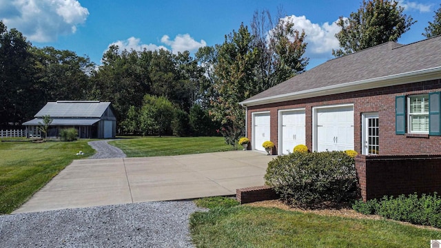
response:
M273 188L268 185L236 189L236 199L240 204L254 203L261 200L276 200L280 198Z

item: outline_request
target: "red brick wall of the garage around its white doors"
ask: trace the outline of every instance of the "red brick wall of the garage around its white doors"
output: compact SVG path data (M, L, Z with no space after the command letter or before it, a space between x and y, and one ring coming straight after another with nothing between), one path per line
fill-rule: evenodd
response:
M322 105L351 103L354 105L354 149L361 154L361 114L378 112L380 126L380 155L441 154L441 136L409 136L395 134L395 97L401 95L427 94L441 91L441 80L409 83L393 87L380 87L344 94L320 96L310 99L271 103L247 107L247 136L252 137L252 112L269 111L271 114L271 141L278 147L278 110L305 108L306 144L312 147L312 108ZM252 148L252 147L251 147ZM253 149L253 148L252 148ZM273 154L278 154L277 149Z

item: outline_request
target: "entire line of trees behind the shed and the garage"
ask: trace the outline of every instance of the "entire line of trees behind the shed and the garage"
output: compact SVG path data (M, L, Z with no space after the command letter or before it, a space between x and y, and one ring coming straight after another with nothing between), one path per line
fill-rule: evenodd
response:
M396 1L362 1L340 18L335 56L397 41L414 23ZM424 30L441 34L441 8ZM234 144L245 135L243 101L305 71L306 34L282 11L254 17L223 43L190 52L121 50L101 65L69 50L37 48L0 21L0 126L21 125L48 101L110 101L121 134L216 135Z

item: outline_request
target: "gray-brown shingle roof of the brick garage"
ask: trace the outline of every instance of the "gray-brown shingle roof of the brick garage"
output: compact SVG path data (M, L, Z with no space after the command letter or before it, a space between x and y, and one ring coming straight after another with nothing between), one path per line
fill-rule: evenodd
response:
M360 52L332 59L288 79L242 103L258 103L294 92L366 81L431 68L441 68L441 36L409 45L387 42ZM379 79L380 80L380 79ZM375 81L375 80L373 80Z

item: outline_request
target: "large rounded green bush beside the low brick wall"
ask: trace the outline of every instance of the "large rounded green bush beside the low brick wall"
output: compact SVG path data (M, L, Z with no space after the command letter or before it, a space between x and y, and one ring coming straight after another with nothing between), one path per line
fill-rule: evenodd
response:
M356 193L353 157L345 152L294 152L270 161L266 184L288 204L310 207L339 203Z

